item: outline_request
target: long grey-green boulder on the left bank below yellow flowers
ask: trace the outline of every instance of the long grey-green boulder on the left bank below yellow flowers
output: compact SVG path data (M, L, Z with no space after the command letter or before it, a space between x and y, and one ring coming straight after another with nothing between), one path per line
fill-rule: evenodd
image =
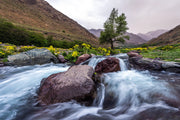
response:
M57 58L47 49L33 49L16 55L9 55L7 65L35 65L54 62Z

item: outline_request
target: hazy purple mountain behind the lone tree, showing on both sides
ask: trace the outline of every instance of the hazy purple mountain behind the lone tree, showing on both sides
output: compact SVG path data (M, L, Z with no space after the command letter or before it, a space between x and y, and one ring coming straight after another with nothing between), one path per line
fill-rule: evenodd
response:
M96 37L100 37L101 31L103 31L103 29L90 29L89 30L89 32L94 34ZM130 39L125 41L125 45L139 45L139 44L143 44L147 42L146 40L142 39L136 34L128 33L128 32L126 34L130 37Z

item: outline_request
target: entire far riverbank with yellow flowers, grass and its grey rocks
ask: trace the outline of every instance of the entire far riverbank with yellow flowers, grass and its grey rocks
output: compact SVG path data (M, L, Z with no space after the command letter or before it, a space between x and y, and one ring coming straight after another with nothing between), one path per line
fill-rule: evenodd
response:
M115 50L112 50L110 48L107 48L107 49L101 48L101 47L94 48L90 46L89 44L85 44L85 43L81 45L75 45L73 46L73 48L70 48L70 49L54 48L53 46L45 47L47 50L49 50L52 53L52 55L50 55L50 53L42 53L42 54L39 53L38 49L40 50L43 48L44 47L15 46L11 44L0 43L1 66L3 66L3 63L5 65L13 65L13 64L21 65L20 61L22 61L22 63L25 63L22 65L44 64L44 63L49 63L49 62L54 62L54 63L69 62L71 64L72 63L79 64L96 55L109 56L110 54L118 54L118 53L124 53L124 52L129 52L129 51L135 51L136 53L139 53L143 57L143 59L131 58L130 63L132 63L131 65L132 67L136 69L140 68L143 70L158 70L158 71L168 70L171 72L179 73L179 65L180 65L180 63L178 63L179 58L180 58L179 45L161 46L161 47L155 46L155 47L147 47L147 48L140 48L140 47L139 48L124 48L124 49L115 49ZM30 53L26 52L32 49L37 49L37 50ZM44 51L44 50L41 50L41 51ZM22 52L24 54L19 54ZM36 58L34 58L35 53L36 53ZM166 53L167 55L165 55ZM14 54L17 54L16 57L12 56ZM32 55L27 56L29 54L32 54ZM10 56L7 58L8 55ZM24 57L22 57L22 55ZM38 57L38 55L40 56ZM49 55L49 57L44 56L44 55ZM166 57L163 57L163 56L166 56ZM17 57L20 57L20 59ZM45 60L44 59L45 57L48 59ZM33 58L33 60L31 58ZM41 60L39 58L41 58ZM12 59L13 60L16 59L15 62L8 63ZM25 59L27 59L27 61L25 61ZM41 61L46 61L46 62L41 62Z

